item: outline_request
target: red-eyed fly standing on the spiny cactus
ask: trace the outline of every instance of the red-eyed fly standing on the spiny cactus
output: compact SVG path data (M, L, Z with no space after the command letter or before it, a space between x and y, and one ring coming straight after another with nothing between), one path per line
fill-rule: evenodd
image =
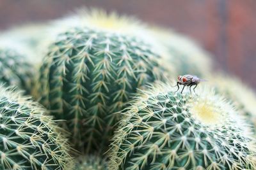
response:
M181 93L183 92L185 86L189 87L190 92L191 92L191 87L195 86L193 88L193 90L195 92L197 85L201 81L206 81L206 80L200 79L197 76L191 75L191 74L185 74L184 76L178 76L178 81L177 81L177 85L176 85L178 87L178 89L176 90L176 92L180 89L179 85L183 85Z

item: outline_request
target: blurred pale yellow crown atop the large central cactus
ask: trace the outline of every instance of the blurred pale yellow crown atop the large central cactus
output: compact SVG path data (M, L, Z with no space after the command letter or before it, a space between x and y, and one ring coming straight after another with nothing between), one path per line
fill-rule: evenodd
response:
M56 32L64 32L73 27L90 27L97 31L141 36L147 27L137 18L118 15L113 11L108 13L97 8L81 8L72 15L55 20L52 25L55 25L54 35Z

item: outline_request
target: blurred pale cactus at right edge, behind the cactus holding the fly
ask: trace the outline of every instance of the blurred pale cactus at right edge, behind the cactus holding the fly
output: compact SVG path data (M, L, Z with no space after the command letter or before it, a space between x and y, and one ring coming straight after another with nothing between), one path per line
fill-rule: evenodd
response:
M209 80L214 80L209 83L218 94L225 96L236 105L239 113L254 126L253 131L256 134L255 92L241 80L225 74L214 74L209 76Z

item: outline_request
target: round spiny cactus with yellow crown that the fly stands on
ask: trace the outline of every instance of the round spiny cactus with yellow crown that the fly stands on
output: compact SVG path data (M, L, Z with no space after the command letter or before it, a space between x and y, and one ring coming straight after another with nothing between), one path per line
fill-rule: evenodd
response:
M232 104L205 88L143 91L124 113L109 169L255 169L255 139Z

